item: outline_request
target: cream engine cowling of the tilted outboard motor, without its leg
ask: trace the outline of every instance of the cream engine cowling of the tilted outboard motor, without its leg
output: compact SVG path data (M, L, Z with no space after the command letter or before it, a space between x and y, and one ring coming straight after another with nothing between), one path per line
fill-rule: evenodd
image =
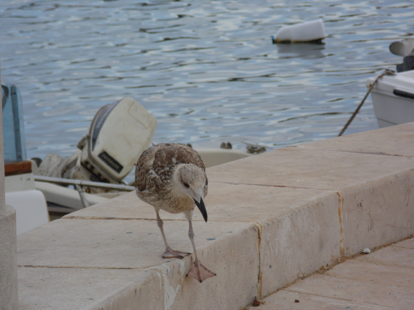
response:
M79 141L82 167L96 181L120 182L148 148L155 129L156 119L130 97L104 105Z

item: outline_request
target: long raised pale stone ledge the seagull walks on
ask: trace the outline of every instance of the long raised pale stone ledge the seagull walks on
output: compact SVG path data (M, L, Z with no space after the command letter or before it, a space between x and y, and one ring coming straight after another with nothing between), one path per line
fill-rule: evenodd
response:
M185 277L193 255L161 258L154 209L135 193L26 232L21 309L61 301L61 309L236 310L344 255L398 241L414 233L413 133L403 124L207 169L209 222L195 212L195 241L217 277L202 284ZM191 252L183 216L160 215L171 246ZM67 292L55 294L62 281ZM43 308L34 305L40 292Z

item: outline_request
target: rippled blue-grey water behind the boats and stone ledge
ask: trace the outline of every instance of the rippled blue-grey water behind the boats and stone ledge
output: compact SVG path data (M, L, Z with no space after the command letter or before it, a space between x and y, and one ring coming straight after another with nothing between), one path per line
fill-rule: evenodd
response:
M413 2L2 1L2 82L22 92L28 157L70 155L102 105L131 96L154 142L272 148L337 136L395 68ZM324 45L272 44L279 27L323 19ZM345 134L378 128L371 99Z

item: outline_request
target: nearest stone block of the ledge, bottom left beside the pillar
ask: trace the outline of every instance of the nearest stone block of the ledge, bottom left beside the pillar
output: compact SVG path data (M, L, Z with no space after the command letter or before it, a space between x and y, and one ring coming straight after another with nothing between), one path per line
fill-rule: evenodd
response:
M164 288L156 270L19 267L19 310L164 309ZM53 292L53 295L50 294ZM125 303L128 301L128 303ZM123 307L119 309L124 309Z

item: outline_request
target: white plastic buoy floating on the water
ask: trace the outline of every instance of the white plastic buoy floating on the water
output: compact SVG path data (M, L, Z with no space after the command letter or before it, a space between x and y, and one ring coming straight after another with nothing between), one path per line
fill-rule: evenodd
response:
M276 36L272 37L273 43L282 42L309 42L322 40L326 37L322 19L307 21L303 24L284 26L280 28Z

